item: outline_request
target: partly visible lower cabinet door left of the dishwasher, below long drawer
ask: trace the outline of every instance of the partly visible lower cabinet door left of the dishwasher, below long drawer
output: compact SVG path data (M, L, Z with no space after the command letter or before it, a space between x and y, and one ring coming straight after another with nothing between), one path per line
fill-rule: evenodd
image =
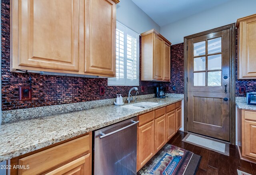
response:
M59 167L46 175L91 175L91 156L87 154L62 167Z

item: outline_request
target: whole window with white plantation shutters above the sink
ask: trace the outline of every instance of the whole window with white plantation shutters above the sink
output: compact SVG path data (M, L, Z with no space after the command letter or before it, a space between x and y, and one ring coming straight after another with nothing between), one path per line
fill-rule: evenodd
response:
M139 34L116 22L116 77L108 85L139 85Z

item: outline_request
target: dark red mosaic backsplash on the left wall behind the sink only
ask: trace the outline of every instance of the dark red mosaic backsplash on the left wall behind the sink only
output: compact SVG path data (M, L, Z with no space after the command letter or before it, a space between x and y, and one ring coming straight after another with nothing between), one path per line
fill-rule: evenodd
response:
M2 0L1 3L2 110L101 100L115 98L116 94L128 95L131 87L108 86L108 79L46 76L31 73L32 100L19 101L19 86L29 85L28 75L10 72L10 0ZM140 81L138 87L140 95L154 93L154 86L157 85L156 82ZM144 92L141 92L141 86L145 87ZM100 96L100 87L105 88L103 96Z

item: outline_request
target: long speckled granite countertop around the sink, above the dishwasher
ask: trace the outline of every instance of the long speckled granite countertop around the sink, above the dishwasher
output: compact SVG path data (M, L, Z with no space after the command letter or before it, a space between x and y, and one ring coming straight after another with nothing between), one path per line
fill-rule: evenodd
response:
M138 100L138 102L157 102L158 104L139 110L108 105L2 124L0 125L0 161L103 128L182 99L149 98Z

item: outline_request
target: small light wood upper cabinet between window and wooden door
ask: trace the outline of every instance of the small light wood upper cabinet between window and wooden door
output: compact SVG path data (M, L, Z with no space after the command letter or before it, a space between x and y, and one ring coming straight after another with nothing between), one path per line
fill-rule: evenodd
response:
M170 81L170 45L160 33L152 29L142 36L142 81Z

